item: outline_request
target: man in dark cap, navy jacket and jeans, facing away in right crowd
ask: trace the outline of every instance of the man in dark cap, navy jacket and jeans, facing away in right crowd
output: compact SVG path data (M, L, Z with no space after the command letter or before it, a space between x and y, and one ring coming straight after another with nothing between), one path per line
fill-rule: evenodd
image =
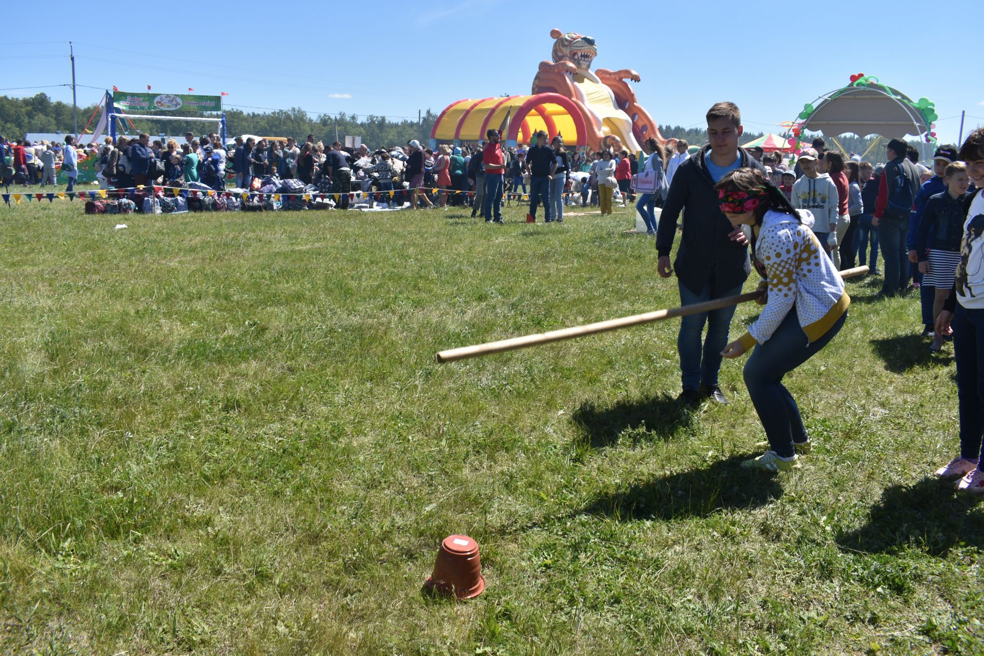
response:
M919 188L919 173L905 158L907 148L901 139L892 139L886 149L889 163L885 165L878 186L878 205L872 225L878 228L878 241L885 260L885 281L880 296L893 296L909 286L909 253L905 236L909 230L909 214ZM904 178L904 180L899 180Z

